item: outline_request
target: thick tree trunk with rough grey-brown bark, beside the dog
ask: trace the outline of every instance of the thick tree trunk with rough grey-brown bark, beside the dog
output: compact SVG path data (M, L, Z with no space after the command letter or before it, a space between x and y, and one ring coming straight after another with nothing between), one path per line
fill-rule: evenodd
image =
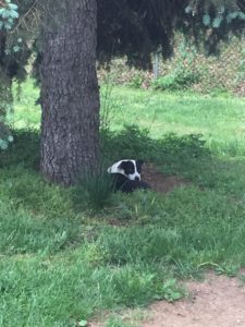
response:
M44 26L41 171L64 185L95 169L99 148L96 0L50 1Z

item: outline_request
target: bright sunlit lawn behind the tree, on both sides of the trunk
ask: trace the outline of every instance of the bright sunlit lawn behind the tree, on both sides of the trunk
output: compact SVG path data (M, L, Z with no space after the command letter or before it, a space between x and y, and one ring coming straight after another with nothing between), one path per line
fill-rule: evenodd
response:
M38 129L40 107L35 105L39 90L28 80L15 86L13 125ZM232 156L245 154L245 100L189 93L161 93L119 86L101 87L101 116L105 125L119 131L123 124L137 124L149 130L154 138L167 133L203 134L208 146Z

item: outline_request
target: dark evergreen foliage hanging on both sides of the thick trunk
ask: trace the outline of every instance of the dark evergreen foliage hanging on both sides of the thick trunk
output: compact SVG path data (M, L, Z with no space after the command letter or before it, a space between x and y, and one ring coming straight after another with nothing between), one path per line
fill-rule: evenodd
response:
M12 100L12 80L25 78L26 63L34 52L38 77L42 37L39 27L52 3L0 1L0 117L4 117ZM98 0L97 5L100 63L126 56L130 64L147 69L152 52L161 51L163 58L172 55L175 31L196 45L204 44L208 53L217 52L219 41L228 40L231 31L240 35L245 24L244 0ZM53 24L60 27L65 22L65 1L61 1ZM1 121L0 138L4 141L9 134Z

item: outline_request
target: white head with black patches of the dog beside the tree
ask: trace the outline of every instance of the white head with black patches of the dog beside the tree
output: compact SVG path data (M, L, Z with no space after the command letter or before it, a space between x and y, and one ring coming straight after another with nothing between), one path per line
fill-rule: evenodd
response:
M108 168L109 173L121 173L132 181L140 181L143 160L124 159Z

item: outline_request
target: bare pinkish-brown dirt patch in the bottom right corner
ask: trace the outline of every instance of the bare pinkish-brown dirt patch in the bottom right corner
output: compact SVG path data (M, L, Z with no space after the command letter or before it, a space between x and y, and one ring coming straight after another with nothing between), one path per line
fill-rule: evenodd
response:
M245 287L236 278L208 274L188 281L188 299L157 302L142 327L245 327Z

